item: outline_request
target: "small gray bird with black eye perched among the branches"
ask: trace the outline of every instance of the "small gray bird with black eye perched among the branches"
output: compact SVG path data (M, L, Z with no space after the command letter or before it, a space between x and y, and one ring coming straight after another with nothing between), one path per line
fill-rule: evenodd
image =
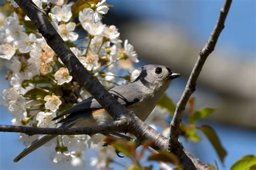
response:
M114 87L109 90L109 93L120 104L125 105L127 109L133 111L142 121L145 121L154 107L156 107L157 102L169 87L171 81L179 77L180 74L173 73L170 68L161 65L140 67L138 68L138 73L139 75L134 81ZM61 118L64 115L68 116L58 122L58 127L81 128L113 121L113 118L93 97L74 105L52 120ZM56 136L51 134L39 137L19 153L14 161L19 161L25 155L36 150Z

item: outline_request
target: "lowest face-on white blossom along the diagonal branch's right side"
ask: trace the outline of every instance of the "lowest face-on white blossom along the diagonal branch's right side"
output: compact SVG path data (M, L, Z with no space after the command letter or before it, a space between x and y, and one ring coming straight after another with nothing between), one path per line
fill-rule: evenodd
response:
M99 56L97 54L92 54L90 51L87 53L86 57L80 57L79 60L89 71L99 67Z

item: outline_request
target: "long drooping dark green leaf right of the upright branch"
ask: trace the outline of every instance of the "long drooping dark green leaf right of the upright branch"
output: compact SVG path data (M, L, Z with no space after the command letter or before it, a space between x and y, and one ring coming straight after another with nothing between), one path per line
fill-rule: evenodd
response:
M224 149L224 147L221 145L217 133L214 131L214 129L212 129L211 126L208 126L208 125L201 125L199 129L205 134L208 140L210 140L213 147L215 148L215 151L218 153L221 162L224 163L224 158L227 152Z

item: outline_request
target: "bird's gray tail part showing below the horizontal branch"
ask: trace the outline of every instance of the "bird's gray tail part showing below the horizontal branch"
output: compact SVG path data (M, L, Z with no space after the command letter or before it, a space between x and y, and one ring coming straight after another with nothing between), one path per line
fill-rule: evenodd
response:
M29 153L35 151L38 147L44 145L45 143L48 143L48 141L55 138L56 136L57 135L55 135L55 134L50 134L50 135L44 135L44 136L37 138L31 144L29 144L29 146L24 148L24 150L21 153L19 153L17 155L17 157L14 158L14 162L21 160L23 157L25 157Z

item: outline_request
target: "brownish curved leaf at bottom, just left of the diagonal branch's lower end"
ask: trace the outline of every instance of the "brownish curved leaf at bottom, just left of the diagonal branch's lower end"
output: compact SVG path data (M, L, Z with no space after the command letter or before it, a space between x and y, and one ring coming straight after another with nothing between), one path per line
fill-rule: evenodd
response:
M147 160L162 161L180 166L179 159L176 157L176 155L167 151L158 151L158 153L152 153Z

